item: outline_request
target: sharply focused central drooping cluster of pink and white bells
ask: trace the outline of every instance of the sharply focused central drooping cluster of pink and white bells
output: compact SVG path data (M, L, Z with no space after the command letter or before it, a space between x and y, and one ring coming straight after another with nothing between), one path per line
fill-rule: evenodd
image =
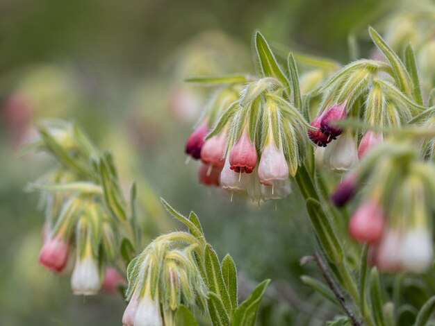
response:
M255 42L267 46L259 33ZM284 75L221 81L241 91L231 94L231 101L213 102L187 141L186 153L202 160L199 181L245 193L255 202L286 197L289 177L304 159L306 128L318 128L288 101L290 82Z

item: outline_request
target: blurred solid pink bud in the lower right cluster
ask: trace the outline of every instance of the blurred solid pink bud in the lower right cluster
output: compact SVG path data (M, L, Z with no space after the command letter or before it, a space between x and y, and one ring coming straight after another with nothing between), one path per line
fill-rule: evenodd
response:
M384 212L375 200L359 206L349 221L349 233L359 242L378 243L384 230Z

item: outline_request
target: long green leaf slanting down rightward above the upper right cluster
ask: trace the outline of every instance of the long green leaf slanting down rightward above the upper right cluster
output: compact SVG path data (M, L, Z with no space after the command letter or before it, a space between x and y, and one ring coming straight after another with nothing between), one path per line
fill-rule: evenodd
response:
M390 62L391 67L393 67L395 79L397 80L400 90L406 94L411 94L411 78L409 77L409 74L407 73L407 70L405 69L400 58L394 53L390 46L386 44L381 35L379 35L374 28L369 27L368 33L370 34L370 37L372 37L372 40L375 42L377 48L384 53L388 59L388 62Z

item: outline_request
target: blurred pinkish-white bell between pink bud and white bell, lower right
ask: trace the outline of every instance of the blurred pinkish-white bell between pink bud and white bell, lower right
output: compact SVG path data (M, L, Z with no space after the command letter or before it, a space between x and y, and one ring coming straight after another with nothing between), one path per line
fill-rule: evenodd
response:
M400 248L402 234L399 230L386 230L376 250L375 264L381 271L398 272L402 270Z

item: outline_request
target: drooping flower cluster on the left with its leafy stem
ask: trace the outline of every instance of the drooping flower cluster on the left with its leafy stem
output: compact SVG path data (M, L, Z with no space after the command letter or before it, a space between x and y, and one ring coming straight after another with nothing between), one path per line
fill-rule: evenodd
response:
M101 286L114 291L124 282L118 252L121 237L133 234L133 216L126 213L110 155L98 159L83 132L63 121L42 123L29 147L48 151L62 164L29 185L41 191L46 217L40 264L71 274L74 294L93 295Z

